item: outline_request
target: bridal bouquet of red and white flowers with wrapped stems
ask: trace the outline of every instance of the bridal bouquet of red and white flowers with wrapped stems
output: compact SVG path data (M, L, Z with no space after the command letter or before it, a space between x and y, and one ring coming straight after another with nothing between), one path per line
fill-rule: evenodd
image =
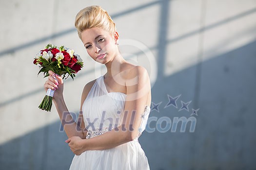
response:
M48 71L63 75L63 79L70 76L73 80L76 73L83 67L82 59L78 54L74 54L74 50L67 49L64 46L56 47L48 44L45 49L39 51L34 58L35 65L39 65L39 72L43 72L44 77L49 76ZM56 79L56 77L54 77ZM39 108L46 111L51 111L52 98L54 90L48 89Z

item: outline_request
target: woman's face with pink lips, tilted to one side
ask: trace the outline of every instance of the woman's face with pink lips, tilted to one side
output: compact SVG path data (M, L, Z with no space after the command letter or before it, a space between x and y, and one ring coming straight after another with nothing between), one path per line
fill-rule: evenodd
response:
M98 63L112 61L118 51L114 36L100 28L84 30L81 40L88 54Z

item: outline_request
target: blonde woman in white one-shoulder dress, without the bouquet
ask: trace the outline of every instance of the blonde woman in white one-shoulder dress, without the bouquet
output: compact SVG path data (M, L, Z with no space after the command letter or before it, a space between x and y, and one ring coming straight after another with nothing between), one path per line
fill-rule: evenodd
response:
M76 123L63 99L61 77L49 71L44 89L56 90L53 101L68 136L66 142L76 154L70 170L149 170L138 143L151 103L146 69L123 59L115 23L100 6L82 9L75 26L90 57L104 64L107 72L84 86Z

